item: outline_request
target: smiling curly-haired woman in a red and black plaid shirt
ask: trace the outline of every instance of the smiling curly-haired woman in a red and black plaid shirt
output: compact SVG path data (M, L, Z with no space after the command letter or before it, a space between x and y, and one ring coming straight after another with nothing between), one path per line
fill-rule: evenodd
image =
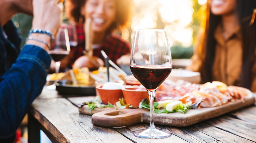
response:
M61 62L61 69L72 69L75 60L83 56L85 49L84 24L92 19L93 56L100 57L103 50L114 63L122 55L130 53L130 44L115 34L115 30L127 27L131 20L131 0L67 0L67 18L76 22L78 45ZM81 60L83 62L83 60ZM81 65L83 65L81 63Z

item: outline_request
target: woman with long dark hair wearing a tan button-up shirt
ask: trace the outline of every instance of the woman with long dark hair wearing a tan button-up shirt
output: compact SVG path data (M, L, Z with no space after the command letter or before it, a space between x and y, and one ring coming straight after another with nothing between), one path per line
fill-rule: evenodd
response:
M255 0L208 0L192 64L202 83L221 81L256 91ZM250 22L250 20L252 22Z

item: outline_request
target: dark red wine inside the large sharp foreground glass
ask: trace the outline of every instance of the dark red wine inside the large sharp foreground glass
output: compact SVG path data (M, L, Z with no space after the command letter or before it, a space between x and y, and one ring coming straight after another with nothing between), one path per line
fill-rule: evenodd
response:
M131 66L134 77L149 91L155 90L171 73L172 68L164 66Z

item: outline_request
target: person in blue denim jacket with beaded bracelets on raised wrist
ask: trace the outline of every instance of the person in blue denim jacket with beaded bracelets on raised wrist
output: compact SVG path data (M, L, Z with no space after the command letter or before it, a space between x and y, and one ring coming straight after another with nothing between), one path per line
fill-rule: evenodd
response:
M0 142L14 142L15 131L45 85L51 63L47 51L60 25L59 2L0 1ZM11 20L17 13L33 16L33 30L22 49L19 32Z

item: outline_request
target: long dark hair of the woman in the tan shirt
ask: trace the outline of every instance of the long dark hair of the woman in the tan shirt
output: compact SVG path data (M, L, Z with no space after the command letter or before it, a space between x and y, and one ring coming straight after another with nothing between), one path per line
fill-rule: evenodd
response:
M255 62L255 46L256 46L256 21L249 25L252 12L256 8L256 0L237 0L235 12L238 14L239 24L242 31L242 48L243 61L241 71L241 87L251 87L252 65ZM205 25L205 38L203 40L203 49L205 57L202 67L202 83L212 81L212 67L215 57L216 40L214 39L214 31L221 22L221 16L213 15L210 11L210 1L206 8L207 18Z

